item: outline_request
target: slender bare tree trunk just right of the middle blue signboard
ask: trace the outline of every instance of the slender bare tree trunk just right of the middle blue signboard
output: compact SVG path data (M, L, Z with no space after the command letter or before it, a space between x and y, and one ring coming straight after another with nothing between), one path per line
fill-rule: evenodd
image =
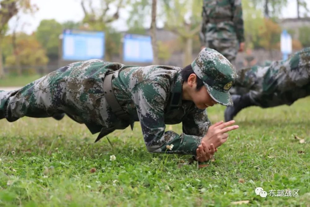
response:
M156 39L156 4L157 0L152 0L152 21L151 21L151 39L153 49L153 64L158 65L158 48Z

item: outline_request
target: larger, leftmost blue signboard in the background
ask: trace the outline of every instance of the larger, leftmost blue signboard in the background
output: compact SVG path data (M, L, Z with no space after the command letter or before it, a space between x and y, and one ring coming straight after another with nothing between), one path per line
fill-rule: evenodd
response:
M64 60L104 58L104 32L65 29L62 41Z

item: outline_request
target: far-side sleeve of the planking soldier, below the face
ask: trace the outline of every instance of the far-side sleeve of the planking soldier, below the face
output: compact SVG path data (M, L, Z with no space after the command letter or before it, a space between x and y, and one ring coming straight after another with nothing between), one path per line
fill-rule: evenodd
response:
M182 121L183 133L199 137L206 135L210 125L207 111L198 109L196 106L188 112Z

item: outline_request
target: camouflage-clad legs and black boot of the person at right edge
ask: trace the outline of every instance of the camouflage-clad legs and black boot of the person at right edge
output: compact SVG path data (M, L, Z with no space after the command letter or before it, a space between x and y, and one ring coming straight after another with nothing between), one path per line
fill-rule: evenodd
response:
M309 96L310 47L296 52L286 61L239 70L234 87L237 91L246 89L246 92L233 95L234 106L225 110L226 121L248 106L291 105L299 98Z

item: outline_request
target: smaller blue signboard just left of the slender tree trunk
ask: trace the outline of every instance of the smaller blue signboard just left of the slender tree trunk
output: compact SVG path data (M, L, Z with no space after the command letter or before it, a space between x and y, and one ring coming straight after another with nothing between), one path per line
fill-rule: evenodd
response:
M124 61L153 62L151 37L138 34L126 34L123 47Z

